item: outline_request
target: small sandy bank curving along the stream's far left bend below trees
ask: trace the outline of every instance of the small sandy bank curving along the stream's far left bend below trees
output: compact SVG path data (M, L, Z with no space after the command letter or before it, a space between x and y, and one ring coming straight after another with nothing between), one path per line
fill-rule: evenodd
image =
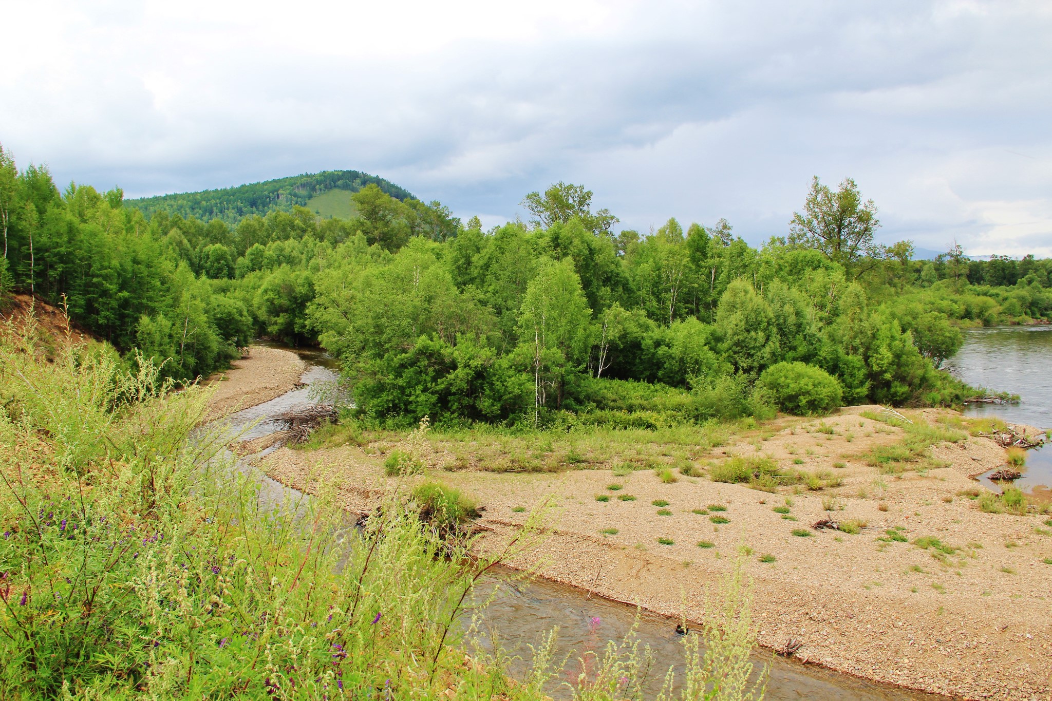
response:
M249 346L248 357L208 378L218 385L208 403L208 419L269 401L295 388L306 364L292 351L266 346Z

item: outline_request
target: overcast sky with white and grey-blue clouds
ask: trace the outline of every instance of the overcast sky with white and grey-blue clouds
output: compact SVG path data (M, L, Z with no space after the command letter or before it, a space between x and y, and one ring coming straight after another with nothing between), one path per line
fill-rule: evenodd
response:
M559 180L758 243L850 176L886 242L1052 255L1052 3L13 2L0 143L128 197L359 169L487 225Z

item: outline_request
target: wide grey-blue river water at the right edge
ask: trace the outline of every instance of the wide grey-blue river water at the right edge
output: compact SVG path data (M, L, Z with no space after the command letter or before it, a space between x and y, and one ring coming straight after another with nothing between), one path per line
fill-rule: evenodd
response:
M1052 327L993 327L965 333L965 345L946 369L972 387L1019 395L1017 405L970 405L969 416L997 416L1009 424L1052 428ZM1027 451L1015 486L1040 500L1052 500L1052 445ZM990 489L999 486L985 476Z

